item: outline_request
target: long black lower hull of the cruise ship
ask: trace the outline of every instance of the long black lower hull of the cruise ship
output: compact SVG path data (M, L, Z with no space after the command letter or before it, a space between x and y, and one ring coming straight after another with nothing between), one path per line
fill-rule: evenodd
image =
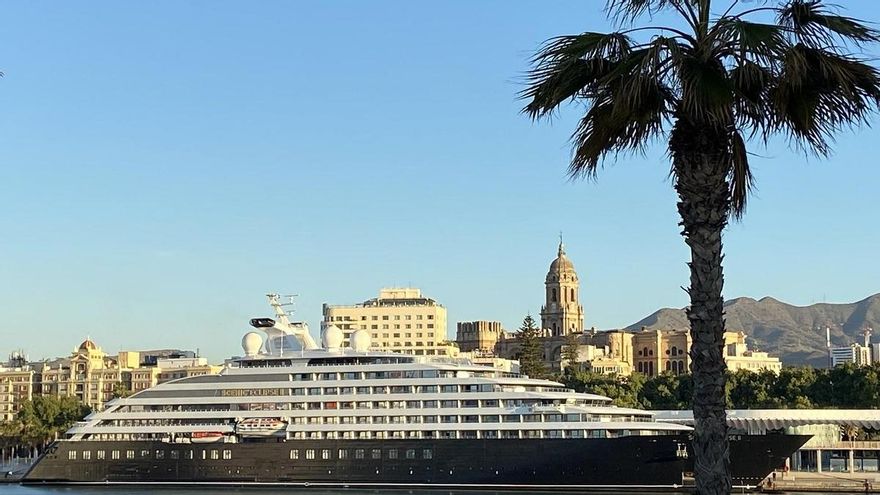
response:
M808 438L734 438L734 484L757 485ZM61 441L22 482L676 490L692 470L689 445L686 435L209 444Z

